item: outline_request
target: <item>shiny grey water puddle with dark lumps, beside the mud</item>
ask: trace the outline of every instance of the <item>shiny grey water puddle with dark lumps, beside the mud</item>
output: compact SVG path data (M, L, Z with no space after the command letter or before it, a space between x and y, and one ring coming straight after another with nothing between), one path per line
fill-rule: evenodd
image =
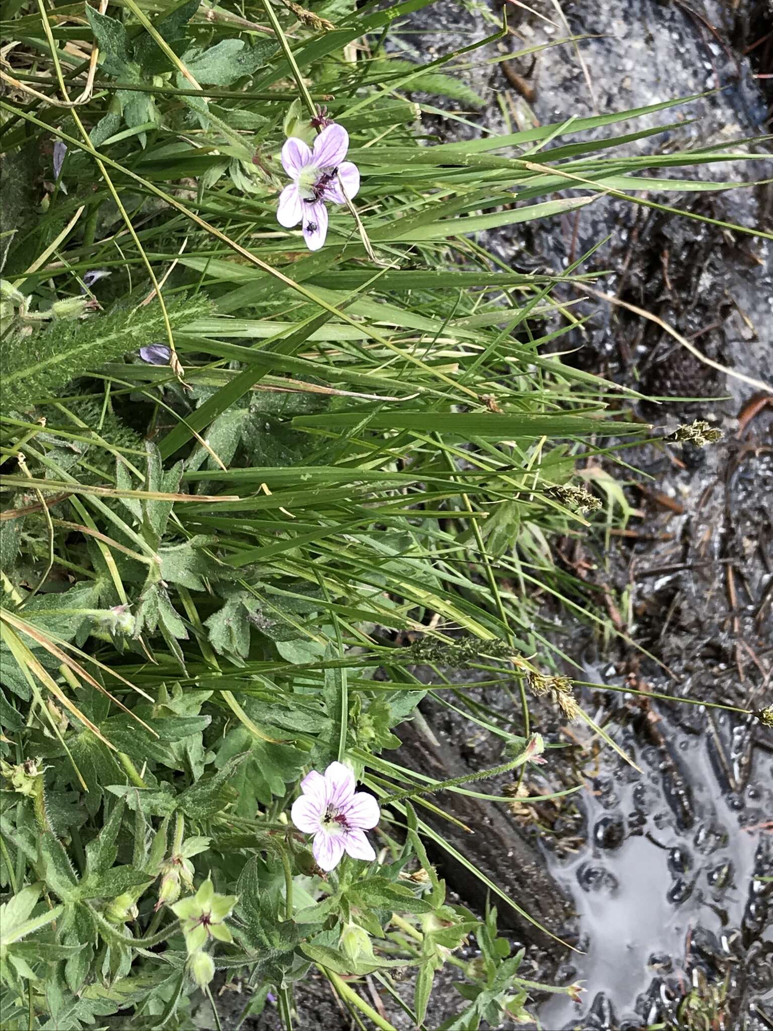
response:
M727 971L729 992L754 1020L754 1006L773 1012L765 901L773 886L760 879L773 854L773 828L764 826L773 816L771 756L758 749L746 786L728 793L709 737L659 721L668 754L629 749L643 775L608 758L589 769L587 839L569 858L548 859L574 901L584 950L564 972L585 994L580 1005L550 998L540 1009L546 1031L659 1024L696 970L712 982ZM731 727L721 729L732 756ZM746 1025L727 1025L736 1026Z

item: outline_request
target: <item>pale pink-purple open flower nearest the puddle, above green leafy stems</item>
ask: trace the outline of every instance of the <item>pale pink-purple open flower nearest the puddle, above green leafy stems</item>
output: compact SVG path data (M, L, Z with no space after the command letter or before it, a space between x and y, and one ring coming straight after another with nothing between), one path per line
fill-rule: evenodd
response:
M378 803L365 791L355 791L355 774L343 763L331 763L325 775L312 770L301 780L303 794L293 802L293 823L313 834L311 851L323 870L332 870L344 852L352 859L376 858L365 831L380 817Z

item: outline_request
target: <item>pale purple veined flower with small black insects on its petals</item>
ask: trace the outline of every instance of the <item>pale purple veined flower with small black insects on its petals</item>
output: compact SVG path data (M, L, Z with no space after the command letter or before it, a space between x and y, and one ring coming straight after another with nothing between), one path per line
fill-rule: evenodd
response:
M343 160L348 146L348 133L334 122L316 137L313 149L296 136L281 148L281 163L293 181L279 195L276 220L285 229L300 222L309 251L318 251L328 235L325 201L345 204L360 189L357 165Z

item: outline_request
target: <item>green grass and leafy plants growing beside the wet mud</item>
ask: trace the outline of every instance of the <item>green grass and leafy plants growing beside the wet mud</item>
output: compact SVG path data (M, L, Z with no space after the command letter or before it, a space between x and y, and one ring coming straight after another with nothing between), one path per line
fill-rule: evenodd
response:
M8 7L4 1026L121 1010L188 1028L198 991L217 1022L220 970L248 980L253 1012L273 992L291 1028L311 966L361 1024L392 1026L350 979L372 974L423 1026L444 962L468 976L449 1027L527 1018L539 986L496 914L446 902L408 801L462 781L384 787L378 757L425 662L515 676L524 733L496 730L508 768L539 757L525 687L557 655L540 598L586 606L550 540L599 506L577 460L646 428L625 392L543 351L576 324L553 288L584 281L581 261L515 273L475 234L605 193L659 206L642 172L711 155L583 145L609 126L613 153L611 127L642 111L424 145L406 90L472 98L455 55L442 74L379 56L415 6L127 0L88 24ZM345 126L363 186L307 254L276 207L285 132L312 138L312 114ZM142 360L152 345L167 364ZM288 813L332 762L381 819L376 860L324 873Z

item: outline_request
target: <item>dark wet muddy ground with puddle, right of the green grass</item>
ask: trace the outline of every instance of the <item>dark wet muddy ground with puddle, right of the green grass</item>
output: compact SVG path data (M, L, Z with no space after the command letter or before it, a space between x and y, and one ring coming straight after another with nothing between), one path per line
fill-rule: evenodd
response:
M665 139L632 145L679 149L769 131L773 80L754 77L773 70L769 0L534 0L530 6L558 26L508 3L514 34L474 54L465 73L486 99L476 124L513 131L721 88L676 119L669 112L646 120L681 125ZM447 53L491 32L480 8L435 4L406 24L404 49ZM506 71L485 63L569 34L595 38L541 51L533 67L531 58L515 59ZM476 131L439 119L427 128L444 139ZM772 168L703 166L688 174L748 181L770 176ZM772 198L763 187L668 201L770 229ZM484 242L512 267L558 272L607 235L589 266L612 269L598 290L665 320L710 360L773 379L769 242L613 199ZM581 725L567 728L546 709L538 716L553 741L575 749L566 776L581 777L587 790L571 803L516 807L501 819L512 821L564 889L575 916L554 929L580 952L557 962L532 945L524 973L584 983L579 1005L563 997L540 1002L544 1031L765 1031L773 1028L773 883L764 879L773 876L773 732L742 713L642 699L624 689L741 709L773 701L773 403L625 306L597 298L583 303L594 318L570 341L578 348L573 360L663 399L715 398L664 400L637 414L666 426L700 415L721 428L725 440L706 450L634 451L628 457L641 472L618 471L639 512L628 535L562 543L567 568L585 579L630 641L601 639L593 628L564 621L562 646L584 670L566 672L617 689L582 689L580 700L640 771L601 749ZM502 705L492 691L484 701ZM447 710L430 703L425 714L459 761L471 768L501 761L496 741L472 741L470 725ZM562 786L548 773L529 788ZM490 790L501 787L492 783ZM527 908L530 887L524 878L518 892ZM453 978L446 967L429 1028L458 1010ZM233 1002L238 1012L243 1002ZM349 1026L325 985L299 986L298 1002L301 1028ZM410 1026L384 1004L396 1027ZM243 1026L280 1025L268 1005Z

